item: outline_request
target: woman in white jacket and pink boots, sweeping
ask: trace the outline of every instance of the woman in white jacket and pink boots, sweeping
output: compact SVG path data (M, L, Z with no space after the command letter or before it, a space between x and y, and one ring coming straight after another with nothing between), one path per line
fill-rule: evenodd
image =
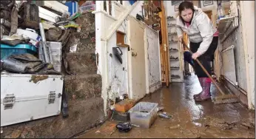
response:
M182 41L182 32L188 35L189 47L193 52L192 58L194 60L198 58L210 74L210 62L213 61L214 52L218 47L218 31L213 27L212 21L206 13L195 7L192 2L181 2L178 10L179 16L176 21L178 40ZM211 98L211 80L195 61L194 68L203 89L201 93L194 95L194 99L195 101L206 101Z

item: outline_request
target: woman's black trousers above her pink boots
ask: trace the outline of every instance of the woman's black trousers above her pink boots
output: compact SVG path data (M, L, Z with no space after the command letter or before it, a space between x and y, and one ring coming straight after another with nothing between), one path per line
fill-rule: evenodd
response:
M201 42L199 43L192 43L190 42L190 50L192 52L197 52L198 48L200 46ZM211 75L211 61L214 59L214 53L215 50L218 47L218 37L213 37L212 43L210 44L208 50L206 52L198 57L198 60L201 62L203 67L207 70L209 75ZM194 69L195 69L195 75L198 76L198 78L207 78L205 72L203 72L203 69L200 67L197 61L194 61Z

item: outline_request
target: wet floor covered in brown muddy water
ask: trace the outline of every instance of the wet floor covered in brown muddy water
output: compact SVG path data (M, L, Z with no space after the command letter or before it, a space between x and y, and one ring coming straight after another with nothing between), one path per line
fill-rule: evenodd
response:
M241 104L195 103L193 95L198 92L198 78L191 75L141 100L164 106L171 119L157 118L150 129L133 127L129 132L118 132L118 122L107 121L78 138L255 138L255 111ZM211 92L217 95L213 84Z

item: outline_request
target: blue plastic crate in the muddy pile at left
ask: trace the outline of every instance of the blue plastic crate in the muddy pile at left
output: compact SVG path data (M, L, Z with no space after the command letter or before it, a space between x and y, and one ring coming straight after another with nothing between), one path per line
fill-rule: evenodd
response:
M24 53L35 55L37 53L37 48L30 44L18 44L14 47L1 44L1 60L8 58L10 55L18 55Z

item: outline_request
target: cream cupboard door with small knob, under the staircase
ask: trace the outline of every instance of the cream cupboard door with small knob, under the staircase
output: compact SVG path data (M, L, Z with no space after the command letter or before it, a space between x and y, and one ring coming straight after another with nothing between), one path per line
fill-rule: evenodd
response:
M129 97L135 100L146 95L146 69L144 50L144 24L133 17L128 20L128 75Z

